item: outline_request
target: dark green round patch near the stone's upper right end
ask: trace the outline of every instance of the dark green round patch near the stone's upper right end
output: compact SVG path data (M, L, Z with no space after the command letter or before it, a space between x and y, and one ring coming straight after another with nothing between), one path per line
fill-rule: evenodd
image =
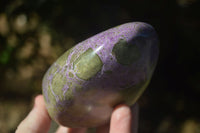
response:
M112 54L117 62L122 65L130 65L140 58L140 51L137 45L128 44L124 39L120 39L112 49Z

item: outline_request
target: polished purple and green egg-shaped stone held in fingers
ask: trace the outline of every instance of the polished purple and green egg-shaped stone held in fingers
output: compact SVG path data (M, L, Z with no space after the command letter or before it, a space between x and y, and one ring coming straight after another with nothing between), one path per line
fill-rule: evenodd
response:
M126 23L99 33L66 51L43 78L52 119L68 127L96 127L113 108L132 105L147 87L158 59L152 26Z

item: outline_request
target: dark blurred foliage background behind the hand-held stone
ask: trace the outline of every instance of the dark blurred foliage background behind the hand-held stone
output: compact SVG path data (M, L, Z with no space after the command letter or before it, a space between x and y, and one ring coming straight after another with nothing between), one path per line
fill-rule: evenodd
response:
M132 21L153 25L160 57L139 99L139 133L200 133L198 0L0 0L0 132L13 133L67 49Z

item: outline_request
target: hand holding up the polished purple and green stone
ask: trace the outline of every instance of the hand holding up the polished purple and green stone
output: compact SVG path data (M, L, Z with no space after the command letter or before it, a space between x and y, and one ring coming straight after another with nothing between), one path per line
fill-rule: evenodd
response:
M34 107L19 124L16 133L47 133L51 119L42 95L35 98ZM97 127L97 133L136 133L138 126L138 106L117 106L111 116L110 124ZM60 126L56 133L86 133L87 128L67 128Z

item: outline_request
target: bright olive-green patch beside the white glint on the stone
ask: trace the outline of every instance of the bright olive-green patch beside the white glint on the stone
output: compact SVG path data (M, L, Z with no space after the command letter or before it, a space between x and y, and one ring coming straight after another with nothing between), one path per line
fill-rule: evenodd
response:
M101 70L102 66L99 56L89 48L75 60L74 71L79 78L89 80Z

